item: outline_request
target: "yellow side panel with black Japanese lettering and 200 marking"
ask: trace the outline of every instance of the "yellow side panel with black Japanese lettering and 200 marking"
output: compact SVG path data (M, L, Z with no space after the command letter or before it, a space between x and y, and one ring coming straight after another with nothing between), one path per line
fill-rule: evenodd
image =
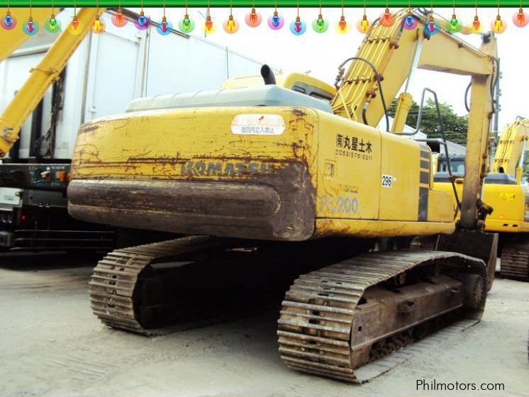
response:
M316 218L379 217L380 134L367 125L321 114Z

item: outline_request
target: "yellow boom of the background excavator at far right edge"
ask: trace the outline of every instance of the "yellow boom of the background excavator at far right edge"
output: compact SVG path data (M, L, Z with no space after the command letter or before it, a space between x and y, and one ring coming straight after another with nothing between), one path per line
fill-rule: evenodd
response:
M517 168L522 167L525 141L529 138L529 120L519 118L509 124L500 135L491 172L504 172L518 177ZM519 175L521 177L521 174Z

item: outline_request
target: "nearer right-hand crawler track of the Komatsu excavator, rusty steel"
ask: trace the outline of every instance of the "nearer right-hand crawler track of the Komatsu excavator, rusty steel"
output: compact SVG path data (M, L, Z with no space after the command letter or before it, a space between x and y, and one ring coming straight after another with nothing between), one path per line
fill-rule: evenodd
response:
M421 267L425 271L442 267L452 275L461 272L463 279L472 275L481 282L474 284L476 291L465 293L460 291L464 282L434 272L423 283L425 286L399 286L405 280L404 274ZM399 289L398 293L383 287L388 283ZM439 291L431 294L435 288ZM425 293L431 295L421 306L420 296ZM399 294L402 295L397 298L399 301L387 298ZM428 306L435 306L435 297L440 306L435 307L436 313L428 312ZM425 325L433 324L433 330L439 329L447 320L454 320L451 314L462 311L479 320L485 297L486 266L481 259L423 250L360 255L301 275L294 281L286 292L278 320L279 353L291 369L362 383L389 368L381 366L380 370L362 374L359 367L417 340L422 336L418 334L428 328ZM375 311L377 301L382 306L386 302L387 307ZM388 330L384 323L394 328Z

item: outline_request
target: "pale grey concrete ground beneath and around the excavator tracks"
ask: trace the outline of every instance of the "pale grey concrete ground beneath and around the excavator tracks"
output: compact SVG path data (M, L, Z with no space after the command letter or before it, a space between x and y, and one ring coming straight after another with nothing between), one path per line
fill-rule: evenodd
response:
M89 307L89 264L0 255L0 396L529 396L529 284L497 279L481 323L349 385L286 369L274 311L153 338L104 328Z

